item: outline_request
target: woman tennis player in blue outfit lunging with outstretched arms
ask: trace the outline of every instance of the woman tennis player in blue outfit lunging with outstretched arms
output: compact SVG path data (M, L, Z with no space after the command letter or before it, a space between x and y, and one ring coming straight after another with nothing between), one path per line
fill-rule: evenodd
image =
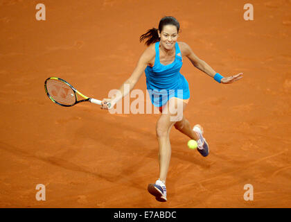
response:
M173 126L184 135L197 141L197 151L202 156L209 155L209 145L203 137L202 126L197 124L191 128L189 121L183 115L177 113L179 108L182 108L182 111L185 110L190 98L188 82L179 73L183 62L182 57L186 56L194 67L211 76L218 83L233 83L243 77L242 73L223 77L214 71L193 53L188 44L177 42L179 28L179 22L175 17L163 17L159 22L159 28L152 28L141 35L140 42L146 40L145 44L148 48L139 58L139 62L130 78L121 85L119 89L121 93L115 94L111 99L103 99L101 105L103 109L108 109L108 103L111 103L111 108L114 107L120 99L130 93L143 71L145 71L151 102L161 112L156 125L156 135L159 143L159 179L155 184L148 185L148 191L161 202L167 200L166 176L171 155L169 134ZM130 85L130 87L125 87L125 84Z

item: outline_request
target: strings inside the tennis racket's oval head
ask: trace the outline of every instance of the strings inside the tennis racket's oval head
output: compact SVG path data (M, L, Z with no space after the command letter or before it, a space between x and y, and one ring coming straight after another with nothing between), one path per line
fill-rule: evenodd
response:
M76 102L76 94L73 89L61 80L50 79L46 82L46 89L51 98L63 105L73 105Z

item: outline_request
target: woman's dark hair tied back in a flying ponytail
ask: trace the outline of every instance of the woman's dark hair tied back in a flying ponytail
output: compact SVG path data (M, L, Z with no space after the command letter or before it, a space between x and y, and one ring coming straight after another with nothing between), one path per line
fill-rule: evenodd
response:
M143 42L144 40L146 40L145 44L147 46L149 46L152 43L159 42L160 37L159 37L159 34L158 34L158 30L161 33L161 31L163 30L164 26L166 26L166 25L176 26L177 31L179 33L180 24L179 24L178 20L175 19L175 17L166 16L166 17L163 17L159 21L159 29L158 28L149 29L146 33L144 33L143 35L141 35L141 37L139 37L139 42Z

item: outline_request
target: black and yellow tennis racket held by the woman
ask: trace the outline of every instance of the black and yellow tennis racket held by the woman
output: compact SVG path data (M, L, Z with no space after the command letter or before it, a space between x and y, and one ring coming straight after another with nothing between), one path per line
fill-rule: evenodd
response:
M58 77L47 78L44 82L44 90L46 95L51 101L57 103L58 105L70 107L76 105L77 103L89 101L101 105L101 101L98 99L89 98L88 96L80 93L73 85L67 83L67 81ZM111 104L107 104L108 108Z

